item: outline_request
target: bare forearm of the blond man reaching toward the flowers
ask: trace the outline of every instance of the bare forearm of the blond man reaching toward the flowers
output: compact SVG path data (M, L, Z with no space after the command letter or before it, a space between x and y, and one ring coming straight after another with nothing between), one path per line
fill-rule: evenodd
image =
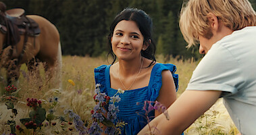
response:
M220 97L217 90L185 90L182 95L168 108L170 120L163 113L153 119L149 125L155 134L181 134L193 122L207 111ZM150 134L149 126L145 126L138 134Z

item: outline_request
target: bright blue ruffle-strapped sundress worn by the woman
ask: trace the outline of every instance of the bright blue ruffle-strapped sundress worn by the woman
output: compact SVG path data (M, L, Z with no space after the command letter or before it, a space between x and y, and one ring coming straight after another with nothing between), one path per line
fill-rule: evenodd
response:
M107 96L113 97L118 90L110 88L110 66L101 65L95 68L95 83L101 84L101 92L105 92ZM120 109L116 121L125 121L127 123L122 130L122 134L137 134L147 125L147 119L141 115L145 114L143 110L144 101L155 101L157 99L162 86L161 72L163 70L170 70L172 72L176 90L178 90L178 74L174 74L176 72L176 66L170 63L155 63L151 71L149 86L126 90L124 94L119 94L121 101L115 103ZM155 112L151 111L150 116L155 116Z

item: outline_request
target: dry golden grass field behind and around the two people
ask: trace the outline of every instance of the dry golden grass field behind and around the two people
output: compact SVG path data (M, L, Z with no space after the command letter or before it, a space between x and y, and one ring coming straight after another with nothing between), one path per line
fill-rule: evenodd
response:
M36 134L78 134L74 129L74 124L69 125L67 122L59 120L59 117L64 117L66 121L70 121L68 116L63 113L66 109L72 109L74 113L81 117L86 125L91 124L91 109L95 105L93 101L95 88L93 70L99 65L109 63L102 57L63 56L62 60L61 89L49 88L47 80L43 78L43 70L41 72L43 87L39 88L38 80L36 78L28 78L26 65L22 65L20 80L17 86L19 91L16 93L18 100L14 103L18 114L16 117L11 118L10 115L13 115L11 109L7 109L5 101L1 100L0 134L9 134L11 132L10 126L7 124L7 121L11 119L16 121L16 125L24 129L23 132L16 131L16 134L33 134L33 130L25 130L25 126L20 123L20 119L28 117L28 113L31 111L31 108L26 105L27 98L41 100L47 114L51 112L55 116L51 123L56 123L56 125L49 124L47 126L47 121L45 120L42 128L36 129ZM174 63L177 66L176 73L179 74L179 90L177 95L179 97L184 92L198 61L170 59L164 62L166 60L162 56L157 57L157 61L160 63ZM1 94L3 94L5 90L5 70L1 69L0 73L3 76L0 80L0 90ZM74 85L68 82L68 80L72 80ZM51 102L52 99L55 102ZM184 134L238 134L238 130L224 108L222 99L220 99L209 111L199 117Z

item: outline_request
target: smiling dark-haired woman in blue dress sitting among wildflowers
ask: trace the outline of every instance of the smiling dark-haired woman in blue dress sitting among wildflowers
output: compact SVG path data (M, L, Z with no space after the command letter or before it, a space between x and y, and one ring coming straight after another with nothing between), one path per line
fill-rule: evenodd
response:
M176 100L176 66L156 62L152 29L152 20L145 11L135 8L121 11L113 20L108 36L113 61L95 69L95 82L101 84L101 92L113 97L119 88L125 91L119 94L121 101L115 103L120 109L115 122L127 123L122 134L137 134L147 124L143 116L145 101L157 100L169 107ZM148 116L160 113L152 111Z

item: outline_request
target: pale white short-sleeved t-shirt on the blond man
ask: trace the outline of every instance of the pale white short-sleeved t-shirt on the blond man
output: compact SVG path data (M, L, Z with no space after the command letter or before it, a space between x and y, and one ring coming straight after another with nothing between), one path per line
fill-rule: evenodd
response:
M236 30L213 44L186 90L220 90L241 134L256 134L256 26Z

